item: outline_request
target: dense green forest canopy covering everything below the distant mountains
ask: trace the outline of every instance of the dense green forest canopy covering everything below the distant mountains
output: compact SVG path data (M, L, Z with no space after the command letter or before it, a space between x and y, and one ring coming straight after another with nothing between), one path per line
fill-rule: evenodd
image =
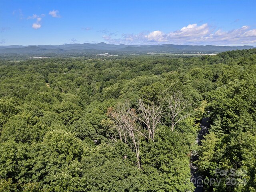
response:
M256 49L1 60L0 192L194 191L194 151L205 191L256 192Z

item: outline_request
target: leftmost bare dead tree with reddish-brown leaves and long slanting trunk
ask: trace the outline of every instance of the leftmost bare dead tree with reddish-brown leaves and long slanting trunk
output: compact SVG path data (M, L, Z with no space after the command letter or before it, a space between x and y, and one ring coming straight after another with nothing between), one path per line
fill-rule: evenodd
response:
M116 109L111 110L109 115L114 121L116 130L118 131L119 138L123 142L127 142L129 137L134 145L134 150L136 153L138 168L140 168L140 149L139 149L139 138L138 133L142 134L138 128L136 128L136 118L131 115L130 103L125 102L116 107Z

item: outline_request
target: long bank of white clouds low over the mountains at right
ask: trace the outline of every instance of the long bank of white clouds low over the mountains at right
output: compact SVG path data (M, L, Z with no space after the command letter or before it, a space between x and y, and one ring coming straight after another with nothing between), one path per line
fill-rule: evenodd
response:
M112 44L256 44L256 29L249 26L223 31L215 30L207 23L202 25L189 24L169 33L160 30L142 32L140 34L122 34L119 39L103 36L104 40Z

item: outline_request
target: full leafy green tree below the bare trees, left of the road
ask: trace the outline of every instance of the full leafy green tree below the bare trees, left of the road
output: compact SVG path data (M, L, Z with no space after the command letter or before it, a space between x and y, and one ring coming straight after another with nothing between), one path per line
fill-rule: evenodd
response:
M144 150L143 170L149 174L147 191L193 190L188 166L189 146L182 134L162 126L156 133L154 142L146 145Z

